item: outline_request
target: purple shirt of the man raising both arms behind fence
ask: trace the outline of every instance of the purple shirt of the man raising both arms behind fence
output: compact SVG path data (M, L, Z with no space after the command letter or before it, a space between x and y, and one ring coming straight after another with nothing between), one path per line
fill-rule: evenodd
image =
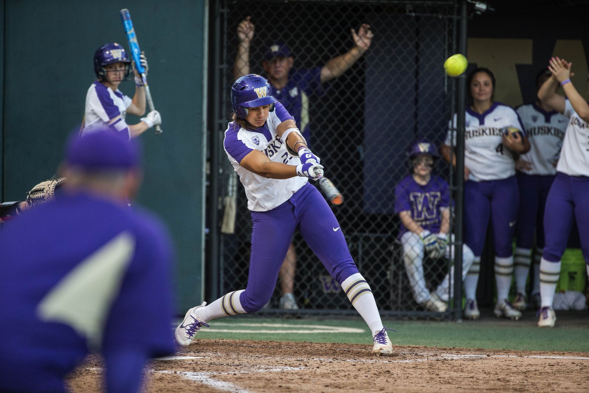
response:
M303 138L310 143L309 96L324 93L321 68L293 68L286 85L281 89L272 86L272 90L274 98L294 117Z

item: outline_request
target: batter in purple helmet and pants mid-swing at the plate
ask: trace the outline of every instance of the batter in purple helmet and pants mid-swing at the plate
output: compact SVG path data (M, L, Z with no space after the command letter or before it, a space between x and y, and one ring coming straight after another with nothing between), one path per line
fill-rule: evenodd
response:
M234 82L231 104L233 121L225 131L224 148L245 188L253 222L247 287L189 309L176 328L176 340L190 345L211 319L261 309L298 229L368 324L375 343L372 352L390 354L391 340L372 290L358 272L332 210L309 184L323 166L307 148L293 117L273 97L266 79L256 74Z

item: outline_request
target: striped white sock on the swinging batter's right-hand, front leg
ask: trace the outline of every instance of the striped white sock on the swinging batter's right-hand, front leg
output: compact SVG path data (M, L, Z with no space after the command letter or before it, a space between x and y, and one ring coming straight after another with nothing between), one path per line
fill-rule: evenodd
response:
M372 290L360 273L353 274L342 282L342 288L352 306L364 319L372 335L382 330L382 321L376 307Z

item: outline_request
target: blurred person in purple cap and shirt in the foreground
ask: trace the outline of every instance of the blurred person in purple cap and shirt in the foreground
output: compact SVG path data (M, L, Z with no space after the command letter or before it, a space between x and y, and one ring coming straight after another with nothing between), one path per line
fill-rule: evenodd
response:
M0 232L0 392L65 392L88 352L108 392L137 392L148 359L174 351L171 243L128 207L141 183L134 141L73 137L59 198Z

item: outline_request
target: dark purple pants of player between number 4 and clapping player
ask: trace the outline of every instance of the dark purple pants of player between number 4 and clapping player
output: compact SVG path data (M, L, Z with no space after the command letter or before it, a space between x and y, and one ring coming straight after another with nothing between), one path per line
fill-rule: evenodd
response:
M540 249L544 248L544 206L552 181L554 181L552 175L517 174L519 188L519 208L515 225L517 247L531 249L534 244L535 229L536 246Z

